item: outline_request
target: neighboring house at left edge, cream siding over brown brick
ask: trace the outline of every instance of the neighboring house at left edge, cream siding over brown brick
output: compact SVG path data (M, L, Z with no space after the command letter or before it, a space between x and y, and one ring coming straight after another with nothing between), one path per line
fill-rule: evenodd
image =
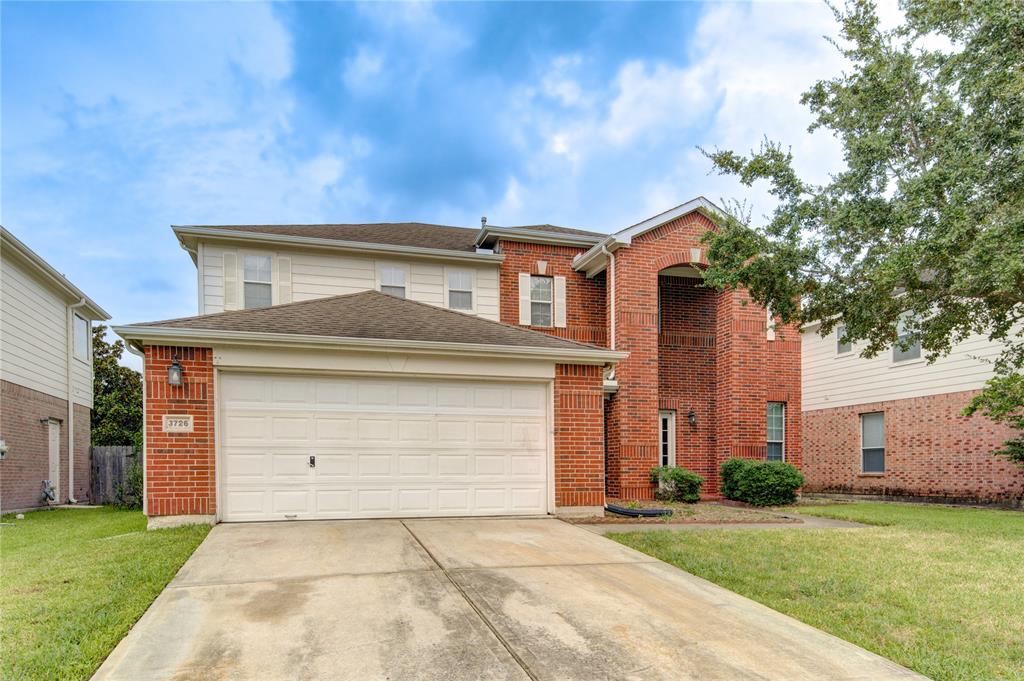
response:
M91 324L109 318L0 226L3 511L88 501Z

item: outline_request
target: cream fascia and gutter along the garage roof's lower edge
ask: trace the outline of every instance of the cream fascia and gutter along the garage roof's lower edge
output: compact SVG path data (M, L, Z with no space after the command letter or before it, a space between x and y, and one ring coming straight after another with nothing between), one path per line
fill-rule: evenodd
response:
M375 338L346 338L340 336L313 336L305 334L269 334L262 332L221 331L213 329L173 329L167 327L114 327L114 332L129 343L180 344L185 342L230 343L271 347L351 348L372 352L401 350L420 354L477 354L492 357L532 357L570 361L572 364L615 364L625 359L628 352L589 349L581 347L554 349L545 347L519 347L515 345L485 345L479 343L447 343L439 341L412 341Z

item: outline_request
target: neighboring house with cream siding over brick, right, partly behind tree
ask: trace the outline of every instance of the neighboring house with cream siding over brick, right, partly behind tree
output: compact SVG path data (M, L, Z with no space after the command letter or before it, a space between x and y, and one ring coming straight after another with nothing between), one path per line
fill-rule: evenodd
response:
M1013 431L961 415L992 376L1002 346L982 336L934 364L920 344L872 358L805 329L804 475L807 492L966 502L1024 498L1024 469L992 456Z

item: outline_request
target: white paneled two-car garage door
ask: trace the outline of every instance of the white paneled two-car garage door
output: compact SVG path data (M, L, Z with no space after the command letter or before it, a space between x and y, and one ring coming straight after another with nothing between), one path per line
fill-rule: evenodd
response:
M547 387L222 373L222 519L546 513Z

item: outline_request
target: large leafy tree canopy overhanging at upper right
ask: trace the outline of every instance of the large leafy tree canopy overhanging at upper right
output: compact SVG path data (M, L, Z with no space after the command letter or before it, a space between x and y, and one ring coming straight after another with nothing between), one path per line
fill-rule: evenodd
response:
M707 240L707 281L822 335L842 324L863 356L916 340L934 361L983 334L1004 345L995 370L1010 384L990 382L976 409L1019 412L1021 391L1006 388L1024 368L1024 2L900 5L891 30L869 0L835 10L850 66L802 99L811 130L843 144L827 183L802 179L777 142L707 153L778 200L761 225L730 206Z

